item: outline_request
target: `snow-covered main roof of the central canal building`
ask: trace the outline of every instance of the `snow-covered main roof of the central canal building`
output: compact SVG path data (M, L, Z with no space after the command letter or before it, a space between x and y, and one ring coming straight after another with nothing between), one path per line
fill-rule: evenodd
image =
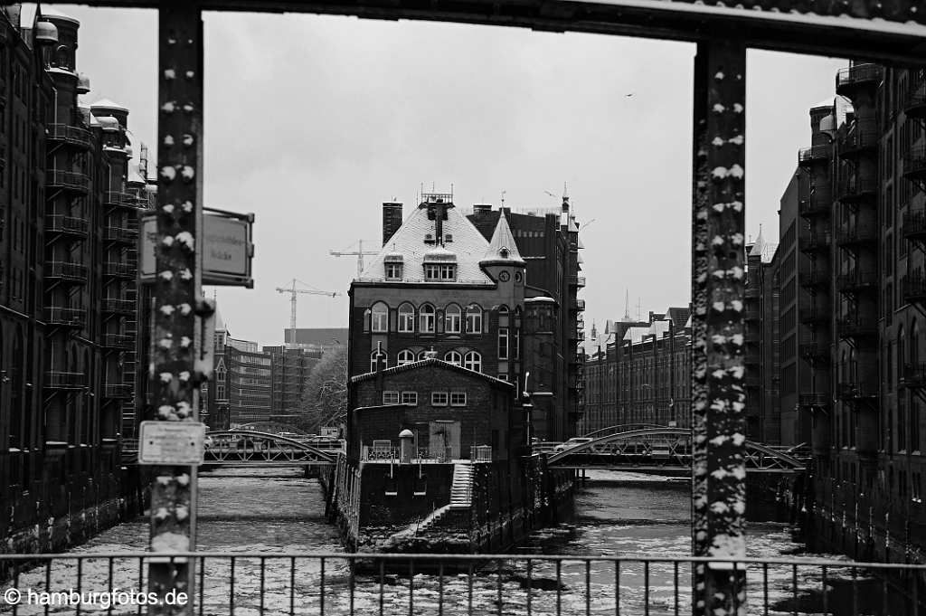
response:
M444 237L453 236L453 241L448 242L446 247L424 243L425 235L434 236L434 220L428 220L427 207L416 207L389 242L382 246L380 253L367 262L359 280L386 282L383 263L387 255L397 254L402 256L405 264L402 280L389 282L423 282L425 255L436 260L438 255L449 254L457 259L457 283L492 284L492 279L479 266L489 243L456 207L447 207L444 211L447 215L447 220L443 221Z

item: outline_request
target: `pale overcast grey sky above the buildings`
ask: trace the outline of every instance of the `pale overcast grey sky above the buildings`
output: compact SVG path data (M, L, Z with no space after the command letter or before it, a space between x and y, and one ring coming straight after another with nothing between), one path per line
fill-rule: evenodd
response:
M156 160L156 12L55 5L81 20L85 98L131 109ZM205 203L254 212L253 289L219 287L232 335L282 343L298 279L300 327L345 327L356 257L378 249L382 202L422 185L457 207L557 207L578 220L585 323L690 291L694 44L462 24L301 14L205 15ZM832 98L838 58L747 57L746 227L778 235L779 199L809 144L807 109ZM631 95L632 94L632 95ZM552 194L552 195L550 195ZM555 196L554 196L555 195ZM530 281L529 281L530 282ZM306 287L304 287L306 288ZM206 287L212 295L213 287Z

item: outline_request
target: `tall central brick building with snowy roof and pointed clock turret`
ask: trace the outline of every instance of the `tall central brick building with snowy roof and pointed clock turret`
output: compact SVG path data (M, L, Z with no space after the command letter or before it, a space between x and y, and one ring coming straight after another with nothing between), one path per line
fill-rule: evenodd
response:
M423 195L397 229L396 207L384 206L386 244L351 285L351 376L375 371L378 361L403 365L431 350L437 358L510 382L530 371L536 434L567 434L564 400L577 390L566 386L569 358L559 342L562 315L574 319L575 307L564 308L546 289L526 283L530 266L507 216L495 216L486 240L457 210L452 195ZM563 221L560 247L567 254L568 211ZM572 233L576 245L577 232ZM557 280L568 286L565 277Z

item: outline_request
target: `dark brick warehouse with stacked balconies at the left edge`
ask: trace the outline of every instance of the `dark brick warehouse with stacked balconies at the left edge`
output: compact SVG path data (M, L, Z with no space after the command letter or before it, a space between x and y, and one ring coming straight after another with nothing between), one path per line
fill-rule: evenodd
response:
M144 181L132 182L128 110L78 102L79 28L50 9L0 11L0 500L12 511L0 534L13 551L117 522L127 487Z

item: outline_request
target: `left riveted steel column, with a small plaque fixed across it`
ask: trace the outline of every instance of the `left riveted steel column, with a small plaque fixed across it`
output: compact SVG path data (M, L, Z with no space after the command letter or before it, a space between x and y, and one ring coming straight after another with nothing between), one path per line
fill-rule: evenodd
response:
M168 6L163 6L168 5ZM194 2L162 3L158 29L157 245L151 392L159 421L197 421L196 308L200 296L197 229L202 216L203 37ZM201 245L201 243L200 243ZM156 467L151 490L151 551L195 546L194 467ZM194 563L152 561L149 614L191 614L164 605L171 591L193 597Z

